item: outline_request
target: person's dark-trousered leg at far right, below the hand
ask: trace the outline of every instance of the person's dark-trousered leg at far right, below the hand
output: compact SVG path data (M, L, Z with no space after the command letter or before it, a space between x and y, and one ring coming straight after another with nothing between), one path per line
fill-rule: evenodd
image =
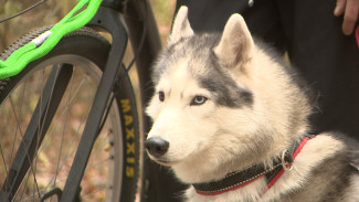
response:
M285 0L278 0L278 3ZM344 35L335 0L297 0L291 61L315 91L315 132L339 130L359 139L359 50Z

